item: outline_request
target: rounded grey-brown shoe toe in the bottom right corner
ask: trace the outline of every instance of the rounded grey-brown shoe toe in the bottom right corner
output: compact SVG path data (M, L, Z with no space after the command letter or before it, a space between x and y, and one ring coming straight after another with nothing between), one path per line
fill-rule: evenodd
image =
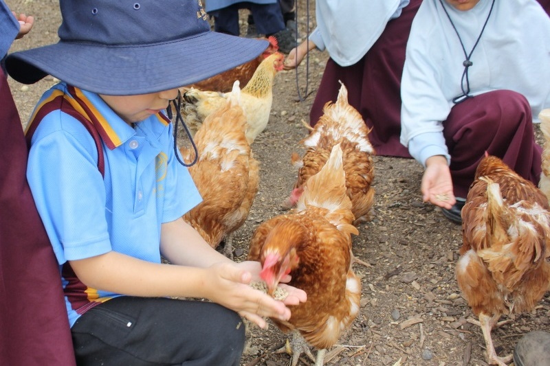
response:
M514 348L516 366L550 366L550 333L536 330L522 336Z

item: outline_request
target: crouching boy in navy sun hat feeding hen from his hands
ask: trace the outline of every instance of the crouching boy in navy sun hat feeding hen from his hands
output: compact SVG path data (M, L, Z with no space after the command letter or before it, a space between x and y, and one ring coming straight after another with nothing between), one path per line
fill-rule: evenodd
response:
M28 125L28 181L58 260L76 361L238 365L245 317L285 302L181 218L201 201L164 115L177 88L258 56L267 42L210 32L198 0L61 0L54 45L16 52L15 80L63 80ZM161 255L170 264L161 264ZM170 297L206 298L181 301Z

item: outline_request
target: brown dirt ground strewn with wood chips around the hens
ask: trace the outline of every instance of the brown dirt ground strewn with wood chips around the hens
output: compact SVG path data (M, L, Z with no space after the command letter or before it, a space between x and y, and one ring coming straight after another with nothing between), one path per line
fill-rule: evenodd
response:
M305 34L307 1L298 0L298 25ZM61 23L56 0L7 0L12 10L36 17L31 34L16 41L11 52L57 41ZM314 1L309 1L309 26L315 25ZM244 25L243 25L244 26ZM302 152L299 141L307 134L302 119L318 88L327 54L311 52L294 71L281 72L274 82L270 123L252 146L261 163L261 181L245 225L234 240L235 260L244 260L252 232L260 222L280 214L280 204L296 179L290 164L293 151ZM54 83L45 78L33 85L10 79L23 124L41 93ZM309 95L300 102L300 95ZM371 267L355 265L362 277L362 307L340 345L327 356L328 365L486 365L480 328L465 319L472 312L454 277L461 246L461 227L443 217L419 194L421 166L410 159L375 157L375 207L371 222L353 238L355 255ZM522 334L550 331L550 298L532 313L521 314L494 330L498 354L509 354ZM287 354L275 354L286 336L275 326L252 329L250 349L242 365L287 365ZM332 357L333 356L333 357ZM312 365L302 358L300 365Z

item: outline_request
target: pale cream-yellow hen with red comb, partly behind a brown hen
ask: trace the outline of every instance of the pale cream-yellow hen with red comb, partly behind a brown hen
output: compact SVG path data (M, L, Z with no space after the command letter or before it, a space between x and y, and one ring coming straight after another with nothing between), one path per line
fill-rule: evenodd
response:
M265 58L241 91L241 106L248 124L246 138L250 144L265 129L270 119L273 80L275 74L283 69L284 58L285 56L278 52ZM228 93L201 91L193 88L184 93L181 115L192 135L196 133L210 113L225 104L226 98L228 98Z

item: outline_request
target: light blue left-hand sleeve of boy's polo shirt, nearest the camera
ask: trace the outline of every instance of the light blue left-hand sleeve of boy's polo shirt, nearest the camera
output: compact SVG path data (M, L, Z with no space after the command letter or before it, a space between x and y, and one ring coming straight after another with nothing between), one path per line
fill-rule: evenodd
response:
M111 251L98 150L85 126L54 111L36 128L27 178L59 264Z

